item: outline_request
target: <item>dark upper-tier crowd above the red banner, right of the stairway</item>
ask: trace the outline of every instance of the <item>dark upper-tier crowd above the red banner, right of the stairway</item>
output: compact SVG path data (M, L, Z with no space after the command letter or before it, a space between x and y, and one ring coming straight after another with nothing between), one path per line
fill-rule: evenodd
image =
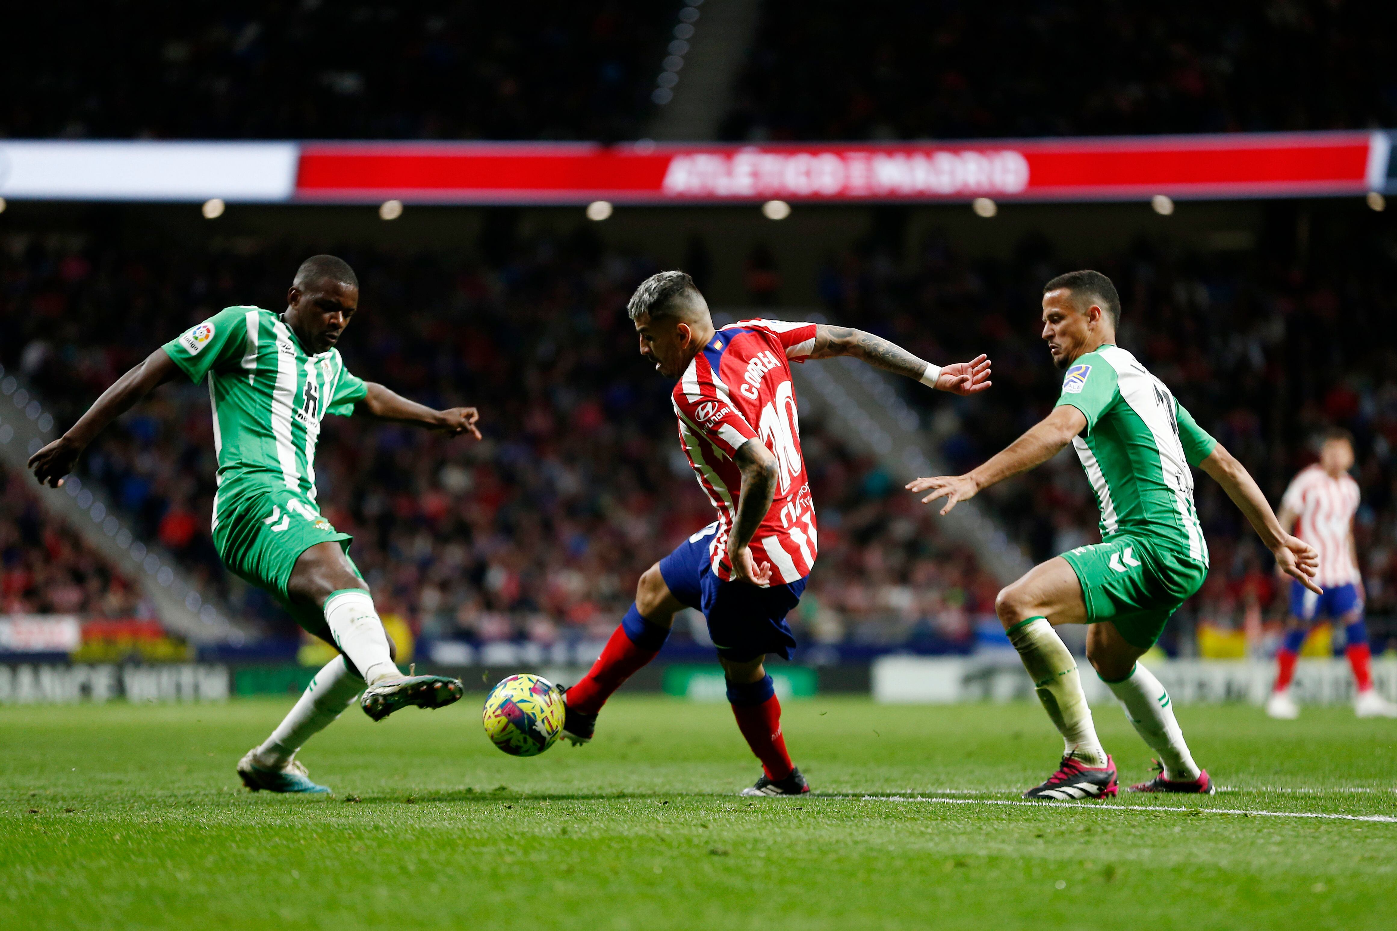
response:
M764 0L722 137L1394 126L1394 28L1393 4L1334 0Z

